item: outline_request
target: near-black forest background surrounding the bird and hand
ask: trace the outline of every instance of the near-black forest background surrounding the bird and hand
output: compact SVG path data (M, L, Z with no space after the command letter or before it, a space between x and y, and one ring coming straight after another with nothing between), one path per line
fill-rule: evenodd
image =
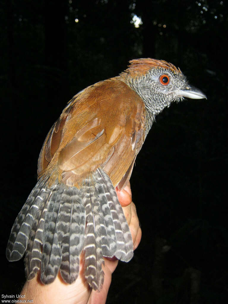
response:
M0 10L1 294L25 282L5 247L50 127L78 91L152 57L208 99L171 105L147 136L131 178L143 236L107 303L227 302L226 2L11 0Z

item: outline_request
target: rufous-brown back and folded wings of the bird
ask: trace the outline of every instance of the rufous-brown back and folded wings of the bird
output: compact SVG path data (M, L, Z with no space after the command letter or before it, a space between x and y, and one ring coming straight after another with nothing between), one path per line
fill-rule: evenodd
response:
M76 95L44 142L38 174L78 185L102 167L122 188L144 141L144 103L125 83L112 78Z

